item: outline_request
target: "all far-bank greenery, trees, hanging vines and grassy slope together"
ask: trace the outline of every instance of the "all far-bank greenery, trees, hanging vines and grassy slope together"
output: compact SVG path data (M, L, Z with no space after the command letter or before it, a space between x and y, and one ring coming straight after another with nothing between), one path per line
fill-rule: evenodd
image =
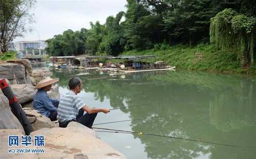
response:
M90 29L55 35L47 51L53 56L154 54L184 69L255 70L251 1L127 0L126 8L105 24L91 22Z

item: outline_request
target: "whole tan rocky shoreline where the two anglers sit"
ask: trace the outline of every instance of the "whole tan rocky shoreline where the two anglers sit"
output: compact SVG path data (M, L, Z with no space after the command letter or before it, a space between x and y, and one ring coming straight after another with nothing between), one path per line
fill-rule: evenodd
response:
M26 59L0 61L0 78L7 78L18 102L22 105L34 131L30 134L45 136L45 153L9 154L8 135L24 135L24 130L9 108L8 99L0 91L0 158L126 158L122 153L100 140L95 131L79 123L72 122L67 128L59 128L44 115L32 108L35 85L45 76L51 76L48 70L33 70ZM50 97L60 98L58 86L48 92ZM36 120L35 117L36 116ZM32 144L33 145L33 144ZM34 149L35 146L18 148Z

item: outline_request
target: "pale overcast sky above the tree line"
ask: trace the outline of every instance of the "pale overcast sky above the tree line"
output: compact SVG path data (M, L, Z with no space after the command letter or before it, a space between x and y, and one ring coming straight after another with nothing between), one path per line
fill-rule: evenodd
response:
M108 16L126 11L125 5L126 0L37 1L33 10L35 23L27 26L32 32L14 41L46 40L67 29L89 29L90 22L104 24Z

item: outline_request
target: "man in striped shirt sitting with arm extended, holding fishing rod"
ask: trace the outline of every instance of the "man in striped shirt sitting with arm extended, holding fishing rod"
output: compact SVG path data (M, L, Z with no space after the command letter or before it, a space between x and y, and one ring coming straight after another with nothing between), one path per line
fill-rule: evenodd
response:
M60 127L65 128L68 123L75 121L91 128L98 112L104 112L105 114L109 112L108 109L89 108L78 98L77 94L83 88L80 78L70 78L68 86L70 90L61 97L57 109L57 119ZM84 114L84 111L87 113Z

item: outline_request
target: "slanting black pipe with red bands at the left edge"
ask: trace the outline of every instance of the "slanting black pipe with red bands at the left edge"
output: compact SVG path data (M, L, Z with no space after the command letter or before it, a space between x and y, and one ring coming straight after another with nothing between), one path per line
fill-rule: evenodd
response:
M33 131L32 125L29 123L25 112L23 111L21 105L18 103L16 96L13 94L5 78L0 79L0 89L2 89L4 95L8 98L10 109L12 113L17 117L19 123L21 123L25 134L29 135Z

